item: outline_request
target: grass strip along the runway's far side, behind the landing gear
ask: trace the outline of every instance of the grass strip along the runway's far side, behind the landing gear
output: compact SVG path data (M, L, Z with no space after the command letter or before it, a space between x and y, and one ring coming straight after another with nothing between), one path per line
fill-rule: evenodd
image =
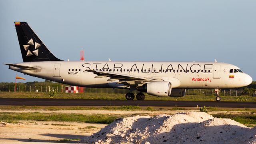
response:
M145 94L145 100L180 100L180 101L215 101L215 96L205 95L189 95L183 97L168 97L168 96L151 96ZM222 101L237 102L236 96L221 96ZM46 92L0 92L0 98L49 98ZM87 99L87 100L126 100L125 94L108 94L108 93L62 93L58 92L54 96L56 99ZM256 102L256 97L247 96L246 102Z

